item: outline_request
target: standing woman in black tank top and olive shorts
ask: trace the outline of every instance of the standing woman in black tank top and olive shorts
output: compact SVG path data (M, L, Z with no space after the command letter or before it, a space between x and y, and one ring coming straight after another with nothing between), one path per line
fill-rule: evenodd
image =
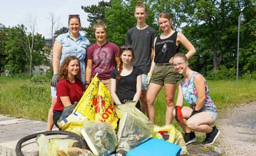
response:
M150 121L155 124L155 107L153 102L164 86L167 107L166 124L171 124L174 119L172 112L175 108L175 90L179 80L178 73L174 69L172 57L179 51L180 43L188 50L186 54L188 59L196 54L196 49L181 32L174 30L172 19L168 13L161 13L158 16L158 23L164 32L155 38L154 59L146 79L147 84L152 79L147 91L147 115Z

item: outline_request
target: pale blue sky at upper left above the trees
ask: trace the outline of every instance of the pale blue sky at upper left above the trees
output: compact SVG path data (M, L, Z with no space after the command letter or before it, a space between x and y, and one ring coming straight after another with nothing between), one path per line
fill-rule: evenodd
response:
M68 26L68 15L70 14L79 14L82 27L87 27L89 26L88 14L81 9L81 5L98 5L99 1L101 0L9 0L0 5L0 23L5 27L16 26L23 23L27 13L35 13L38 34L49 38L51 22L48 18L50 12L60 18L60 27Z

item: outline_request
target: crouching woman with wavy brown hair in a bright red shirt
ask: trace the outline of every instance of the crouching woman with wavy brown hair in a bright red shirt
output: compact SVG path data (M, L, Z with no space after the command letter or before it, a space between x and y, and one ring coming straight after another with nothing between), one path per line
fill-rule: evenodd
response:
M56 127L64 107L79 102L86 90L86 87L80 80L81 69L80 62L75 56L68 56L60 65L59 82L57 83L57 102L53 108L53 122Z

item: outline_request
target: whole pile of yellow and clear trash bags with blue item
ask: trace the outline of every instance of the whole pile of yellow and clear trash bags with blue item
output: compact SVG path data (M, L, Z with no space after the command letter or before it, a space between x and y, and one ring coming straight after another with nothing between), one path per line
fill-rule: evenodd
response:
M62 130L80 135L90 149L71 147L72 141L47 141L38 136L40 155L44 155L40 152L42 144L48 149L55 145L58 155L188 154L181 133L172 124L153 125L133 101L114 107L109 91L96 76L78 104L64 108L58 125Z

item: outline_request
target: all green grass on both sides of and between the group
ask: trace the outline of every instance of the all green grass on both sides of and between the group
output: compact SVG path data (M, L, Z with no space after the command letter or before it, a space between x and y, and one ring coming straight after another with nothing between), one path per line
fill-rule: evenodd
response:
M210 88L210 96L220 113L225 108L256 101L256 80L241 79L238 83L235 80L208 80L207 83ZM175 93L175 102L177 93L178 90ZM166 115L164 88L158 94L154 105L156 110L155 124L163 126ZM188 104L184 102L184 105ZM46 121L50 106L49 82L33 83L26 77L0 77L0 113L18 118ZM181 130L175 119L172 124Z

